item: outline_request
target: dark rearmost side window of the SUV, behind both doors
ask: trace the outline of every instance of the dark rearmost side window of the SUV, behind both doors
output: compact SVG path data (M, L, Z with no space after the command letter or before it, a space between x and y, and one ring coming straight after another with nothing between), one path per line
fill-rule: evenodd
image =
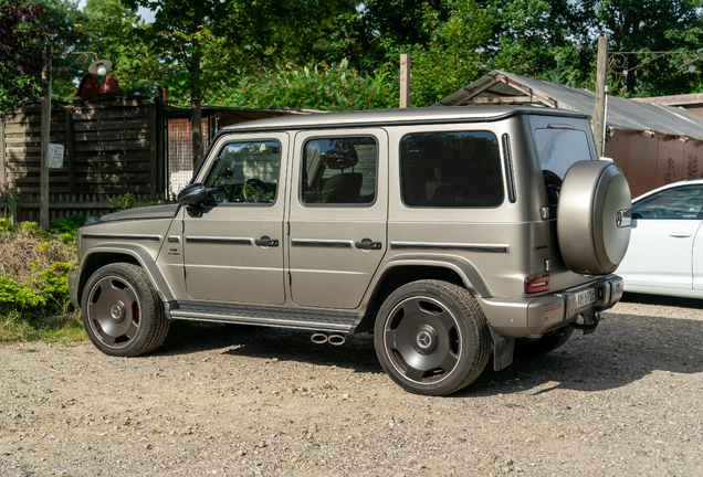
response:
M487 131L407 135L400 180L406 205L497 206L504 195L497 138Z

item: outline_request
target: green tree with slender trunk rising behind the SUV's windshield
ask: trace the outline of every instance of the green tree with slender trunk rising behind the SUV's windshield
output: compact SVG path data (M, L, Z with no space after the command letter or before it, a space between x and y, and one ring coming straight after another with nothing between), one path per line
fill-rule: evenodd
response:
M156 12L146 35L155 56L144 71L191 106L193 165L202 157L200 106L222 82L245 68L298 54L339 4L333 0L128 0Z

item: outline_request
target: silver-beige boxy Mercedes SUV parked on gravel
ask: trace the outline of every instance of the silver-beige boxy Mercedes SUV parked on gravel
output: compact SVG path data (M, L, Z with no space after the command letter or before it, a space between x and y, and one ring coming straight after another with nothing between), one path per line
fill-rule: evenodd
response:
M590 332L622 295L630 190L587 116L451 107L221 130L178 204L90 220L70 276L94 344L155 350L172 319L374 333L407 391Z

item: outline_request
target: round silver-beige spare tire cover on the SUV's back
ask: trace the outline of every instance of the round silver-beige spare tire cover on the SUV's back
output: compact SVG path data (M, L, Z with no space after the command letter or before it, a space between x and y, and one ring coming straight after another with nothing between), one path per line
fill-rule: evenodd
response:
M557 206L562 258L574 273L616 271L630 242L630 186L610 161L575 162L566 172Z

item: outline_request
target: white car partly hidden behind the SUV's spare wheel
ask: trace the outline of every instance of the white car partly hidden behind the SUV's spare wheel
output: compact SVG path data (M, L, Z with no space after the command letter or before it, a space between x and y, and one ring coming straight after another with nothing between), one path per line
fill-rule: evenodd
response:
M632 234L618 275L625 290L703 298L703 179L632 201Z

